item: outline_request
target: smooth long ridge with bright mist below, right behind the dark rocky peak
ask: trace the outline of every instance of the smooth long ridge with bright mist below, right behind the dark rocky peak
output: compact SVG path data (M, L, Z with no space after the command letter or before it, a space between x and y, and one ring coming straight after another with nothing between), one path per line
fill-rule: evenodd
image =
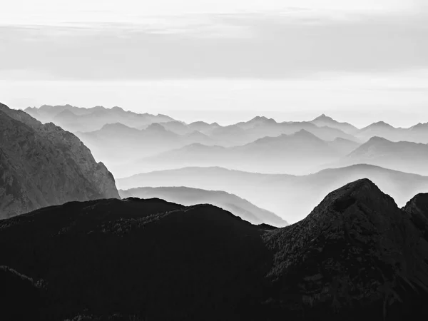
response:
M225 168L161 170L118 179L118 188L138 186L188 186L225 190L295 223L307 215L330 190L352 180L370 178L392 195L400 206L421 192L428 192L428 177L387 170L374 165L352 165L311 175L248 173Z

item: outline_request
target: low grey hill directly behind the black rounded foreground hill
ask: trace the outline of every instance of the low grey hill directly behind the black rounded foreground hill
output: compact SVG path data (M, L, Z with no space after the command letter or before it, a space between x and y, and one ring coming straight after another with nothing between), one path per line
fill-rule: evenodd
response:
M268 210L239 198L236 195L223 192L223 190L201 190L200 188L187 187L160 187L160 188L131 188L130 190L119 190L122 198L161 198L173 203L186 206L209 203L223 210L228 210L243 220L253 224L265 223L276 227L287 225L285 220Z

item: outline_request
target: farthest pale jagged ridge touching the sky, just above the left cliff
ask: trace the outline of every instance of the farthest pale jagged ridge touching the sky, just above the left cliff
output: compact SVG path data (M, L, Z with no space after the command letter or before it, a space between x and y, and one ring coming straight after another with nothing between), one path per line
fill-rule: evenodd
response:
M128 127L142 128L151 123L174 121L169 116L133 113L132 111L124 111L120 107L104 108L103 106L96 106L93 108L78 108L70 105L44 105L40 108L26 108L25 111L43 123L53 122L66 131L72 131L73 133L78 131L97 131L107 123L123 123Z

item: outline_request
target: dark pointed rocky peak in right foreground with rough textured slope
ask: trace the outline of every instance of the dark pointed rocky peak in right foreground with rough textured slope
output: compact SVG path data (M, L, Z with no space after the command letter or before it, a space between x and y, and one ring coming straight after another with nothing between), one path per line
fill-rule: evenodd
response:
M335 190L266 240L275 253L269 311L309 320L320 312L329 320L402 320L427 298L427 240L370 180Z

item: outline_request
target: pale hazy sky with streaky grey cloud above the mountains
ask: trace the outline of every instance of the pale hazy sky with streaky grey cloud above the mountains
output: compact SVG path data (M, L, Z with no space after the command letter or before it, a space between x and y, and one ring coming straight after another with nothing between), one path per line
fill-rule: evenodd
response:
M426 2L8 1L0 101L411 126L428 121Z

